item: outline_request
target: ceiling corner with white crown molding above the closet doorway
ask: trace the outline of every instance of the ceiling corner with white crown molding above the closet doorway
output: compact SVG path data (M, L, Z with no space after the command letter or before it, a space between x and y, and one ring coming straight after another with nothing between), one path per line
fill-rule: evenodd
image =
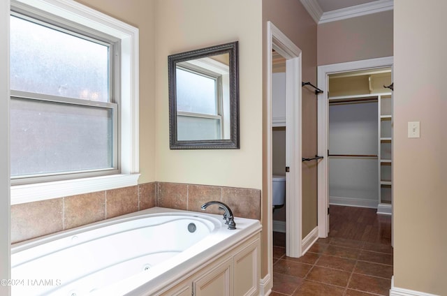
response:
M394 0L300 0L317 24L393 10Z

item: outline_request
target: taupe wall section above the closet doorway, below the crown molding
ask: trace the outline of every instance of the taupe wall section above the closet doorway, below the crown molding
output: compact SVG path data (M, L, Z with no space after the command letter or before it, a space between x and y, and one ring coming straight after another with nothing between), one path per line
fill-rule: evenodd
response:
M318 66L393 56L393 11L318 25Z

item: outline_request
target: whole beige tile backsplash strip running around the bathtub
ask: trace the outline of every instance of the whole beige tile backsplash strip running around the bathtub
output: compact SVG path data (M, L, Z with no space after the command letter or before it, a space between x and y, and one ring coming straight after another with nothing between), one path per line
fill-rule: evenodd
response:
M261 219L258 189L153 182L11 206L11 242L17 243L150 207L202 212L203 203L226 203L235 216ZM217 206L206 212L219 214Z

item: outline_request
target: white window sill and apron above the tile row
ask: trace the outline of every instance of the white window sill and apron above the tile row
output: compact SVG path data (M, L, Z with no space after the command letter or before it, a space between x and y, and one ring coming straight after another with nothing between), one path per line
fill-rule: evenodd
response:
M121 174L11 186L11 205L135 186L138 177L140 174Z

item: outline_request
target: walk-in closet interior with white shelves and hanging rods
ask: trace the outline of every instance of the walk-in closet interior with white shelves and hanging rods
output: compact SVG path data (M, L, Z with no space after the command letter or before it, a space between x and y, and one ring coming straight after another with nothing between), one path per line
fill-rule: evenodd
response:
M329 77L330 205L391 214L393 110L391 68Z

